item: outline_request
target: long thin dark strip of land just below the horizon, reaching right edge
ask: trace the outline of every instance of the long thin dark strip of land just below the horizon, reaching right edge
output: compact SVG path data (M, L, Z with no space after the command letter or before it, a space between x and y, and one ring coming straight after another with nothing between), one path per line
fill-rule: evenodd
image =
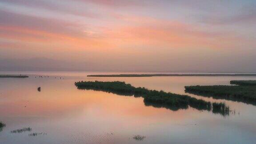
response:
M120 74L88 75L90 77L150 77L150 76L256 76L256 74Z

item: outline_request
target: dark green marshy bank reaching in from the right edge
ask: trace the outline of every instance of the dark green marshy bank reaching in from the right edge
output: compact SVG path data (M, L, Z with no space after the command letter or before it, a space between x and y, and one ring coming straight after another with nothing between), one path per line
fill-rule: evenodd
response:
M231 81L239 85L185 86L185 92L256 105L256 86L251 81Z

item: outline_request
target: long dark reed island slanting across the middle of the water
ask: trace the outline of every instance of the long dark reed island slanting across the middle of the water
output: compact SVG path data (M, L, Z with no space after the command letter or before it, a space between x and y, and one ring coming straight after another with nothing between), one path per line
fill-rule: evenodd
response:
M102 81L86 81L86 82L76 82L76 87L79 89L92 89L104 92L112 92L118 95L125 96L135 96L143 97L146 106L153 106L157 108L168 108L171 110L186 109L188 106L196 108L198 110L208 110L215 109L215 113L220 113L224 116L228 115L228 107L225 108L223 114L223 109L216 107L218 104L211 104L210 102L204 100L198 100L196 98L174 94L171 92L148 90L147 88L135 88L131 84L126 84L125 82L114 81L114 82L102 82ZM216 108L214 108L216 107Z

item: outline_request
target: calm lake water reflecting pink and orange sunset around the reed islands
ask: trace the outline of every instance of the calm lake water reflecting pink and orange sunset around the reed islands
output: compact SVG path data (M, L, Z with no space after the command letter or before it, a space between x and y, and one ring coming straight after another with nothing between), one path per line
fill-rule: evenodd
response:
M186 85L256 80L253 76L97 78L86 76L118 72L0 72L4 73L27 74L29 78L0 79L0 121L6 124L0 132L0 144L255 144L256 141L256 106L184 92ZM46 78L38 78L39 75ZM135 87L225 102L235 112L224 117L193 108L178 111L154 108L145 106L143 98L78 90L74 82L80 80L125 81ZM37 91L39 86L41 92ZM32 131L11 132L27 127ZM29 136L34 132L42 134ZM137 141L133 139L135 135L146 137Z

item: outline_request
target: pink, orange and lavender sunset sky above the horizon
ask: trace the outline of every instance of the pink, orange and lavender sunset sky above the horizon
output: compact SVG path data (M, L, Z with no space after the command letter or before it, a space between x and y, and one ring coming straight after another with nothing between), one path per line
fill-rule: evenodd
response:
M0 0L0 71L256 72L256 0Z

